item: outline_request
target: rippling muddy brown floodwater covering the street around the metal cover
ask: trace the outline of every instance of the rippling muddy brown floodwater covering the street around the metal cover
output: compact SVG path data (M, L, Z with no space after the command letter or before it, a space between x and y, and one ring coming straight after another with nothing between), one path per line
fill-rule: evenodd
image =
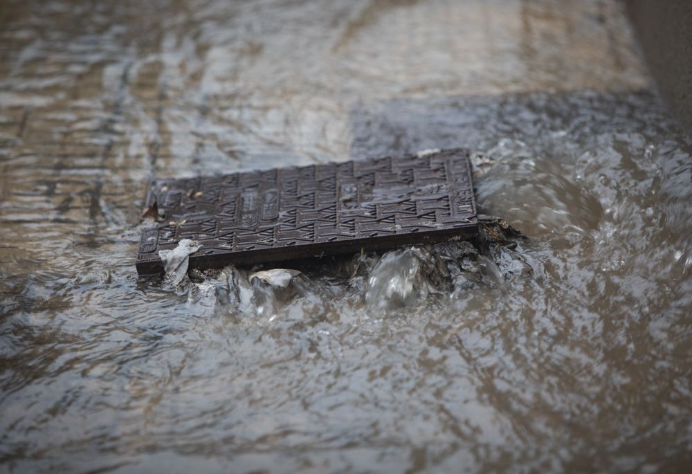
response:
M528 267L136 273L154 178L450 147ZM617 1L4 1L0 471L686 472L691 155Z

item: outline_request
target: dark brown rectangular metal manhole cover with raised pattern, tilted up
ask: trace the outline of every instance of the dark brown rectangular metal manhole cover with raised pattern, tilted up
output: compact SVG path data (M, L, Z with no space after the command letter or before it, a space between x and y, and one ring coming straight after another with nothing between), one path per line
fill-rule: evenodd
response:
M249 265L390 248L477 234L468 152L157 181L156 228L144 230L137 271L162 271L158 251L201 249L190 268Z

